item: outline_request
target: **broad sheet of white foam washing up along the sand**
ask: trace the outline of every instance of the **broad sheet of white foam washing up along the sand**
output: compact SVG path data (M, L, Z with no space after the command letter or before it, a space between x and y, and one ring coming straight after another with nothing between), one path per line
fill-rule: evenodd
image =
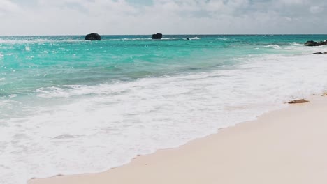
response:
M23 103L24 116L0 118L0 183L104 171L327 87L324 55L240 61L230 70L38 89L44 104Z

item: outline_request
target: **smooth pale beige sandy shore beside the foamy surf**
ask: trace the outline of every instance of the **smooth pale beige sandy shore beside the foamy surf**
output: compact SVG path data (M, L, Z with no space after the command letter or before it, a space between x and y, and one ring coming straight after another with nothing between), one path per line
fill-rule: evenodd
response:
M29 184L327 183L327 97L308 99L103 173Z

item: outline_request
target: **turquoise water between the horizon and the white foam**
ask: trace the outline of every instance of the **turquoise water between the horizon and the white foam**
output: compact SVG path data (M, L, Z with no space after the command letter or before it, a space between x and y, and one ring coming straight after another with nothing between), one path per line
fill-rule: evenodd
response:
M253 35L165 36L166 40L150 40L148 37L103 36L99 42L87 42L83 36L2 37L0 94L33 93L44 86L93 85L217 70L235 64L235 57L281 53L271 47L262 48L266 45L285 47L326 38L319 35ZM261 49L254 50L258 47Z

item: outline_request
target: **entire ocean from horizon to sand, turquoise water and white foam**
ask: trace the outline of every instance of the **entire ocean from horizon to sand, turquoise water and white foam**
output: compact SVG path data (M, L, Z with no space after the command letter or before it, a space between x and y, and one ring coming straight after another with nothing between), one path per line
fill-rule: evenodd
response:
M84 38L0 37L1 184L106 171L327 90L327 47L303 45L327 35Z

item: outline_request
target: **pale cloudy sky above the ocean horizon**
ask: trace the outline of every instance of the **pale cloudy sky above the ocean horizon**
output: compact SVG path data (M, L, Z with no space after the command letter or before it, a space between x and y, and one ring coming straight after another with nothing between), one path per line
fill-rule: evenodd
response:
M0 0L0 35L327 34L326 0Z

